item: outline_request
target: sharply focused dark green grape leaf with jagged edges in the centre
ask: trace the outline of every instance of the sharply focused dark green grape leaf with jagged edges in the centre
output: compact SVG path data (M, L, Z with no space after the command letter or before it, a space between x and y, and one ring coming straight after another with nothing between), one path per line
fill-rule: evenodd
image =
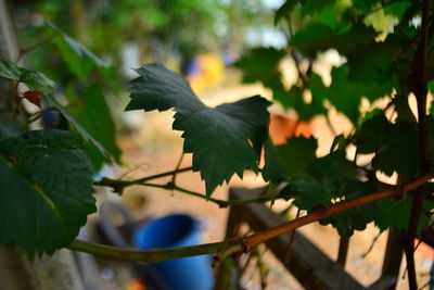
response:
M233 174L257 171L260 149L267 138L269 102L259 96L216 108L203 104L178 74L159 64L145 65L132 81L130 110L165 111L174 108L174 129L183 131L184 153L193 153L193 169L200 171L206 193Z

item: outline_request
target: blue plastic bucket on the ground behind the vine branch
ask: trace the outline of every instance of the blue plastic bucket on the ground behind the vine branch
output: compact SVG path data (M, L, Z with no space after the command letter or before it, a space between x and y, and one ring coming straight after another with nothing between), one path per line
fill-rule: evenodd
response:
M199 222L188 215L173 214L154 219L135 231L140 249L164 249L201 243ZM174 259L153 266L174 290L210 290L214 285L209 255Z

